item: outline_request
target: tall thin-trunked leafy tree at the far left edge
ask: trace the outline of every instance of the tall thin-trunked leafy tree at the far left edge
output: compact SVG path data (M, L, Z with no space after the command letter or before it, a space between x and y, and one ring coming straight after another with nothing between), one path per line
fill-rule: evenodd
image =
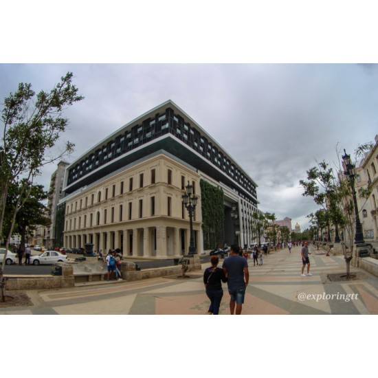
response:
M48 156L68 125L68 119L63 117L63 110L83 99L72 84L72 78L73 74L68 72L51 91L39 91L37 95L31 84L20 83L18 90L4 99L0 145L1 234L10 183L15 182L20 186L6 239L6 249L12 236L16 213L29 197L34 177L41 173L45 164L60 159L74 147L74 144L67 142L60 153ZM4 262L5 258L0 269L0 282L3 282Z

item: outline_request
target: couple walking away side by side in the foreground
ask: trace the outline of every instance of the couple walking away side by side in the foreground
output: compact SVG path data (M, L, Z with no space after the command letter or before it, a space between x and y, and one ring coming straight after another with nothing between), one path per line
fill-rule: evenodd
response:
M244 303L245 289L249 281L247 259L239 256L239 248L232 245L230 256L223 261L222 268L218 267L218 256L211 257L212 266L205 269L203 283L206 295L210 299L209 315L219 315L219 307L223 297L222 283L227 282L230 293L230 313L240 315Z

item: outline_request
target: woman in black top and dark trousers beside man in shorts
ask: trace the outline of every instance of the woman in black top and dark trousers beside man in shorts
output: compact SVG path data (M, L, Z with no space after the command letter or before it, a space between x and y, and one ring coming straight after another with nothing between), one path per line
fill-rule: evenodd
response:
M206 288L206 295L210 299L208 315L219 315L219 307L223 297L222 282L227 282L223 269L217 267L218 256L211 256L211 267L203 274L203 283Z

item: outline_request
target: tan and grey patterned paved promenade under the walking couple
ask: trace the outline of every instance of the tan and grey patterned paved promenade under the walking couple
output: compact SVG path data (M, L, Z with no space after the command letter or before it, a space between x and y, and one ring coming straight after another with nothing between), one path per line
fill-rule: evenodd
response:
M326 256L310 247L311 273L300 276L300 247L272 252L262 266L248 259L249 285L244 315L377 314L378 278L351 267L358 280L331 282L328 274L345 271L342 256ZM219 263L221 266L222 260ZM203 287L203 270L178 276L134 282L85 283L71 289L26 291L31 306L2 307L0 315L205 315L209 300ZM224 284L223 284L224 285ZM227 286L221 314L229 315Z

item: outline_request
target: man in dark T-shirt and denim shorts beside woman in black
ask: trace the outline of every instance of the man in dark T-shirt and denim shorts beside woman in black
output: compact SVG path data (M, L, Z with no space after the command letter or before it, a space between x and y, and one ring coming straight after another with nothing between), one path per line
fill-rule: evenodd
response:
M230 313L241 315L244 304L245 289L249 282L247 259L238 254L238 246L232 245L230 256L223 261L223 271L227 277L228 293L230 293Z

